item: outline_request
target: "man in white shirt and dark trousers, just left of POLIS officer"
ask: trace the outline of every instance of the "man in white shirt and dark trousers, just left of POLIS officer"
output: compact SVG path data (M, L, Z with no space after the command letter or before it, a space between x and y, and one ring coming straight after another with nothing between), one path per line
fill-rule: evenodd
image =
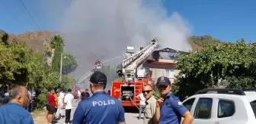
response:
M71 110L72 110L72 101L74 99L74 96L72 95L71 93L71 88L68 89L68 94L65 96L64 98L64 103L62 105L62 109L66 109L66 118L65 118L65 123L68 123L70 122L70 113L71 113Z

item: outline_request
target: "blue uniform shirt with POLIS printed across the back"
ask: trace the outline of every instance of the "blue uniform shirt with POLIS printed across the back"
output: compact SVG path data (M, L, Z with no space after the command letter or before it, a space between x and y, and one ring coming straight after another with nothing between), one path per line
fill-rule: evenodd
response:
M72 120L74 124L110 124L124 121L122 103L105 91L98 91L78 104Z

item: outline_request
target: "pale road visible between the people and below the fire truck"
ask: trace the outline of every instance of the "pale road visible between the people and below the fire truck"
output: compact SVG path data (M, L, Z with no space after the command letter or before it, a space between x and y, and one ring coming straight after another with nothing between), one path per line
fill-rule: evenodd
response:
M75 100L76 101L76 100ZM77 107L77 102L74 102L73 103L73 109L71 110L71 119L73 119L73 115L75 113L75 109ZM65 114L65 112L62 114ZM142 124L143 123L143 119L137 119L137 116L139 114L138 113L125 113L125 119L126 119L126 124ZM53 123L56 123L56 124L63 124L65 122L65 117L62 118L62 119L59 119L59 120L56 120L56 121L53 121Z

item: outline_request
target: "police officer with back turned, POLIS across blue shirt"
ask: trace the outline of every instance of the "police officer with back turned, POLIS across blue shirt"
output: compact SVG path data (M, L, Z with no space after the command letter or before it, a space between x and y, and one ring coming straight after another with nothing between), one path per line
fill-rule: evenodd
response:
M73 124L125 124L121 102L104 91L107 76L96 71L91 75L90 82L93 95L78 104L72 120Z

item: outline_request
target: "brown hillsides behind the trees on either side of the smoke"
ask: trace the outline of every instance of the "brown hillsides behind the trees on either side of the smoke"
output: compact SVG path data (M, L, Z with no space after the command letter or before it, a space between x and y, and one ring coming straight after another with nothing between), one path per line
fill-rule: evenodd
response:
M0 41L5 40L6 33L0 29ZM8 39L10 42L14 41L24 41L33 48L35 51L45 51L45 42L47 39L50 39L56 33L50 31L35 31L27 32L20 35L8 34ZM207 45L214 45L219 43L219 39L215 39L212 36L190 36L189 43L192 46L193 50L200 50L201 48Z

